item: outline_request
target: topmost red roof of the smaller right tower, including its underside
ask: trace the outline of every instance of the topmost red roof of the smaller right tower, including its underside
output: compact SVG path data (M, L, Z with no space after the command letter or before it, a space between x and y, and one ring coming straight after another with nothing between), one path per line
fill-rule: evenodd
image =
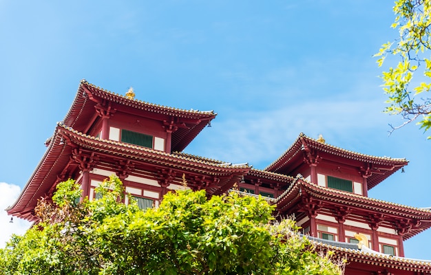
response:
M301 133L292 146L264 170L289 175L295 168L304 164L305 151L312 151L318 155L322 159L321 162L353 166L358 172L368 173L368 190L408 164L403 158L364 155L319 142Z

